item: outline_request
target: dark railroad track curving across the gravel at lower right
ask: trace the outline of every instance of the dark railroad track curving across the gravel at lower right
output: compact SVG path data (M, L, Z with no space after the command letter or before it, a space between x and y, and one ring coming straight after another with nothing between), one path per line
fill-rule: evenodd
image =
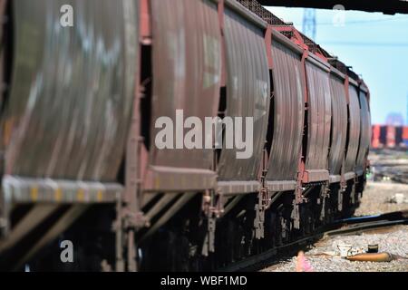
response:
M269 266L279 257L282 257L285 254L296 254L296 251L299 249L310 246L313 242L325 237L350 235L376 228L393 227L398 225L408 225L408 211L396 211L384 215L340 219L333 224L324 227L314 235L302 237L287 245L275 247L264 253L249 256L246 259L223 267L219 269L219 271L257 271L265 266Z

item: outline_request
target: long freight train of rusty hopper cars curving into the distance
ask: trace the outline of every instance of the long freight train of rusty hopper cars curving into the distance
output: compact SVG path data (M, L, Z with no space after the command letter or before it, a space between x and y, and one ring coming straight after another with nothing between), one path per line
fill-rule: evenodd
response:
M358 206L368 88L256 1L2 0L0 14L2 269L216 270ZM159 148L156 121L177 111L252 118L252 154Z

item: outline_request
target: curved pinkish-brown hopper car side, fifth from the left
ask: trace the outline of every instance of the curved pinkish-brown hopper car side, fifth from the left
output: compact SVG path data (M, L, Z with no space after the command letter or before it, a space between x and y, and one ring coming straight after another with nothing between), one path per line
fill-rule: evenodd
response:
M306 170L328 169L332 117L329 73L307 61L306 78L309 93Z

